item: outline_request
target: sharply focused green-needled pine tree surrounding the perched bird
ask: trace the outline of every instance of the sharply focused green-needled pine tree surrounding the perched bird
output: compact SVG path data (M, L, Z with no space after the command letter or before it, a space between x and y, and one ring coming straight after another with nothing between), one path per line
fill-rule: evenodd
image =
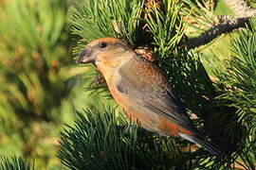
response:
M207 6L209 3L212 7ZM253 21L246 24L249 18L236 18L238 23L232 23L229 17L215 16L213 3L190 0L78 1L71 8L71 21L73 33L82 37L75 53L82 51L87 42L101 37L120 38L134 49L138 46L149 48L155 54L155 64L168 76L190 115L195 117L194 125L219 144L226 156L216 158L188 142L130 125L121 111L113 109L114 106L91 107L78 112L75 127L67 127L62 134L59 157L67 167L254 169L255 24ZM221 19L227 19L225 26ZM193 23L197 24L193 30L203 29L205 33L194 38L186 34ZM204 23L208 25L200 27ZM206 69L201 58L208 56L194 47L239 27L246 28L231 39L227 50L232 55L223 64L224 69L219 70L214 63ZM196 42L199 38L207 40ZM88 78L92 84L86 90L107 93L104 81L100 86L95 82L95 79L99 80L99 73Z

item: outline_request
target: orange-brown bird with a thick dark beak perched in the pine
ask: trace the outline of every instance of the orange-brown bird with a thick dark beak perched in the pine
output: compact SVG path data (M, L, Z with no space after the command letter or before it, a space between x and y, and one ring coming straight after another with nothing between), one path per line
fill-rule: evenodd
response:
M85 45L78 63L93 63L110 93L132 122L160 135L180 137L222 155L195 127L167 77L118 38L99 38Z

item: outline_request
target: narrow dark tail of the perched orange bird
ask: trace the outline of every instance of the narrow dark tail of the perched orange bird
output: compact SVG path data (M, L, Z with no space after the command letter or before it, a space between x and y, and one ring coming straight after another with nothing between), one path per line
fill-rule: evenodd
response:
M184 138L194 144L200 144L201 146L205 147L207 150L210 151L210 153L212 153L215 156L221 157L224 156L224 153L218 148L218 146L216 144L212 144L210 143L208 140L206 140L205 138L201 137L201 136L192 136L189 134L185 134L185 133L179 133L179 136L181 138Z

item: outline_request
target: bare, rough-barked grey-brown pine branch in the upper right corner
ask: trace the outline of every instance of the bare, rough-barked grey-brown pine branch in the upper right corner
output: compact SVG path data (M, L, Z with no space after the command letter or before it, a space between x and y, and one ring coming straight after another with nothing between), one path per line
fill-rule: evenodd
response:
M197 3L197 6L194 6L192 2L185 0L185 3L187 3L191 8L197 8L197 12L200 13L199 10L202 10L206 13L206 15L210 15L210 11L208 11L207 8L203 7L202 4ZM189 49L199 47L201 45L205 45L213 40L215 40L217 37L221 36L222 34L227 34L229 32L232 32L235 29L239 28L245 28L247 21L254 17L256 14L256 9L250 8L247 6L247 3L243 0L226 0L227 4L229 5L229 8L234 10L234 12L237 14L237 16L229 16L229 15L218 15L215 16L213 13L211 13L212 21L214 21L214 26L210 26L208 30L204 31L202 34L200 34L197 37L190 38L188 42L186 42L186 45ZM201 11L201 14L202 14ZM212 12L212 11L211 11ZM199 15L198 15L199 16ZM198 17L195 16L195 17ZM207 18L207 17L205 17ZM207 20L207 19L206 19Z

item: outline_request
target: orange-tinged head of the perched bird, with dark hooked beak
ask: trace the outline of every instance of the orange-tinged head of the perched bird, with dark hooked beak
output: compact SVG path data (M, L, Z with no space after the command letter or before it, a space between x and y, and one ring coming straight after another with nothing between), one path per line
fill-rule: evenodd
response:
M82 53L79 55L78 63L92 62L96 66L100 64L108 64L111 66L113 62L117 62L127 51L131 51L131 47L116 38L101 38L89 42Z

